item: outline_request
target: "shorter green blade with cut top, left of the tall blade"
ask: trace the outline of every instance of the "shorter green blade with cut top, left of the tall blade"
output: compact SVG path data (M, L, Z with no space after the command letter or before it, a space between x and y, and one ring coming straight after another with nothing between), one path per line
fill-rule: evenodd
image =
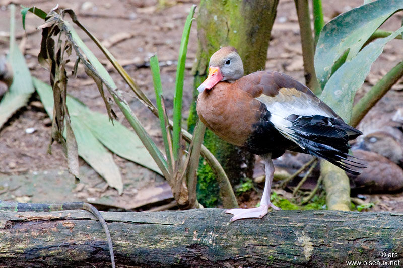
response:
M153 82L154 82L154 91L155 91L155 97L156 97L156 102L157 102L157 109L158 109L158 118L160 119L160 127L161 127L161 134L162 138L164 140L164 146L165 146L165 154L167 155L168 163L172 163L171 159L171 153L169 149L169 143L168 143L168 133L167 130L167 124L168 122L168 116L165 112L165 110L162 107L161 100L163 98L162 95L162 84L161 84L161 77L160 77L160 66L158 64L158 58L157 55L154 55L150 58L150 68L151 68L151 73L153 75Z

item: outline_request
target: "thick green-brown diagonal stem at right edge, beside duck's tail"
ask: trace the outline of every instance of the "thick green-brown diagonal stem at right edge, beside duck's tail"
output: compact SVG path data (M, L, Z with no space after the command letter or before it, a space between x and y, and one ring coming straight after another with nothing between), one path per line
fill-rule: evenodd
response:
M403 61L394 66L353 107L350 125L355 127L380 98L403 76Z

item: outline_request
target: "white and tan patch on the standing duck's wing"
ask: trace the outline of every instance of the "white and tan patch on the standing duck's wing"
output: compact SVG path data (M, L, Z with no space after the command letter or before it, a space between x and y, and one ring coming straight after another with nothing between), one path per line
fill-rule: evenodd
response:
M332 116L327 111L324 111L319 107L319 99L312 98L301 91L297 91L295 88L280 88L279 94L274 97L261 95L256 99L266 105L267 110L272 115L270 121L273 123L276 129L284 137L298 144L302 149L305 149L304 146L298 142L295 132L290 129L292 122L286 120L286 118L290 115Z

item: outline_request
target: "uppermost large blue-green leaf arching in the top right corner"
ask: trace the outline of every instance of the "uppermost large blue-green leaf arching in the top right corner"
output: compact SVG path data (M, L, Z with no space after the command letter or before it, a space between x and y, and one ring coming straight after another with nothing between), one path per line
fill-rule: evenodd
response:
M368 38L393 13L403 9L401 0L377 0L345 12L328 22L320 32L315 53L315 71L324 88L333 64L346 52L346 61L360 51Z

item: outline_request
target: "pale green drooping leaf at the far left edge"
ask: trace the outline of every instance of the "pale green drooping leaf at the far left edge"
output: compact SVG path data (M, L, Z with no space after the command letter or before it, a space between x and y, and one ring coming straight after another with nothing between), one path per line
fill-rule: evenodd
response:
M15 6L11 5L10 54L8 61L13 68L13 83L0 101L0 127L21 107L25 106L35 91L25 58L15 41Z

